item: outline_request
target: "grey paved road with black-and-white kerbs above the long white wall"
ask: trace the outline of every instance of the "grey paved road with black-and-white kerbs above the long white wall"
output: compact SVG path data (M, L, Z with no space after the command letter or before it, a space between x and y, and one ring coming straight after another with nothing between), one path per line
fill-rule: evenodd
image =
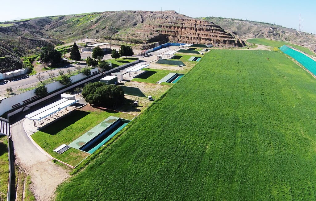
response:
M84 68L85 65L86 65L86 61L81 61L80 66L82 68ZM64 68L61 68L61 70L63 70L65 73L67 73L66 72L67 69L74 71L74 70L76 70L75 69L76 66L77 65L69 64L69 65L65 66ZM41 75L44 75L44 79L48 79L49 78L48 72L54 72L55 76L58 76L58 70L59 69L46 71L46 72L41 73ZM29 77L21 79L21 80L7 82L3 85L0 85L0 94L6 94L7 87L12 87L13 91L16 91L18 88L22 88L22 86L25 86L25 85L28 85L28 84L34 83L34 82L39 82L39 80L36 78L36 75L32 75L32 76L29 76Z

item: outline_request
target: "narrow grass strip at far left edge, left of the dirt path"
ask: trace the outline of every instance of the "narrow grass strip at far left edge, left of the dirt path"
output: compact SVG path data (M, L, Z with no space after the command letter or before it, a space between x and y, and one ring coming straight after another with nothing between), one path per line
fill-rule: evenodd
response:
M7 199L9 182L8 136L0 135L0 198Z

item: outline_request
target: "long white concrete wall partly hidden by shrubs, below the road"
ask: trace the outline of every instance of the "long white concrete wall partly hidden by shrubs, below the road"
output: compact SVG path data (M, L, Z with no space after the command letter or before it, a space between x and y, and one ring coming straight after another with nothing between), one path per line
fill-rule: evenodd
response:
M93 72L98 72L98 68L94 68L94 69L92 69L90 71L91 71L91 74L93 74ZM87 76L85 76L84 74L80 73L80 74L71 76L70 79L71 79L71 82L74 83L74 82L82 80L82 79L84 79L86 77ZM84 80L84 81L86 81L86 80ZM47 84L45 86L47 88L48 93L56 91L56 90L64 87L64 85L60 84L59 81ZM72 87L73 87L73 85L70 86L70 88L72 88ZM67 88L69 88L69 87L67 87ZM0 115L2 115L3 113L9 111L10 109L12 109L12 105L15 105L15 104L18 104L18 103L23 105L23 101L24 100L27 100L27 99L29 99L31 97L34 97L34 96L36 96L35 89L32 89L32 90L29 90L27 92L23 92L23 93L17 94L15 96L12 96L12 97L9 97L9 98L4 98L1 101L1 103L0 103Z

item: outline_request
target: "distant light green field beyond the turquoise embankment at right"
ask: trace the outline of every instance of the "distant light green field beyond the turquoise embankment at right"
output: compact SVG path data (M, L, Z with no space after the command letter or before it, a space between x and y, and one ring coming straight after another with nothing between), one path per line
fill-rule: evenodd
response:
M252 38L252 39L248 39L247 42L254 43L254 44L260 44L260 45L267 45L267 46L271 46L271 47L281 47L283 45L289 45L291 47L295 47L298 50L301 50L302 52L305 52L306 54L315 55L311 50L309 50L306 47L291 44L291 43L288 43L286 41L268 40L268 39L264 39L264 38Z

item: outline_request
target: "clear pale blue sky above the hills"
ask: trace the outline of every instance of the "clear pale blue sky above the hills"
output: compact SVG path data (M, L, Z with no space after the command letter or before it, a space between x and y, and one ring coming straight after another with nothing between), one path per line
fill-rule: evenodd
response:
M316 0L1 0L0 21L111 10L175 10L190 17L229 17L316 33Z

